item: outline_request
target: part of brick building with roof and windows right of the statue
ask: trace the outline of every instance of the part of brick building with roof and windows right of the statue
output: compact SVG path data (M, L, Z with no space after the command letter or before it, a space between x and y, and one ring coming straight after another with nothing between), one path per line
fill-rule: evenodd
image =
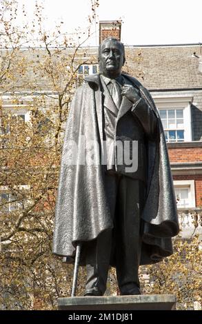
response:
M202 73L199 44L141 46L142 83L159 109L184 235L202 205ZM185 228L187 227L187 228ZM198 228L199 232L200 226Z

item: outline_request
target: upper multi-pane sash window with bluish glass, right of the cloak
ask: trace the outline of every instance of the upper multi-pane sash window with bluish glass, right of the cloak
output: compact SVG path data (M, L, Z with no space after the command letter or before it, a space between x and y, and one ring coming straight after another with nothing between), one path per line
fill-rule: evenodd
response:
M163 123L166 141L184 141L183 109L161 109L159 114Z

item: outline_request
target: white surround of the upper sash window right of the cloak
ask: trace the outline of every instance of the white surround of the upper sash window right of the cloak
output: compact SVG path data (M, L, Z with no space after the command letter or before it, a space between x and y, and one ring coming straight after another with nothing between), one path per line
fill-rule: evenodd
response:
M183 109L184 141L174 141L171 143L192 141L191 105L193 97L154 97L153 99L158 110Z

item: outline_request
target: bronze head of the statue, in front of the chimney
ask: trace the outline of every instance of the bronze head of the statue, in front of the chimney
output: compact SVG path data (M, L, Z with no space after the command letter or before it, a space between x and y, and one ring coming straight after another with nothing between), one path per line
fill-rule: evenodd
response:
M105 77L119 77L124 63L125 50L121 41L109 37L99 45L99 68Z

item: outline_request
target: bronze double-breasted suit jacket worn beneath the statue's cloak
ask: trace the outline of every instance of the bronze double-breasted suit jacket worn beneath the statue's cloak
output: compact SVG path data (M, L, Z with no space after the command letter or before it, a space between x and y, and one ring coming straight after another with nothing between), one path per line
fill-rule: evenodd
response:
M124 83L132 85L130 80L125 78ZM155 139L156 114L141 98L141 94L136 103L123 97L118 109L102 77L101 85L104 109L103 136L107 141L108 151L107 170L127 174L133 179L146 182L147 139L145 138ZM128 111L125 113L125 110Z

